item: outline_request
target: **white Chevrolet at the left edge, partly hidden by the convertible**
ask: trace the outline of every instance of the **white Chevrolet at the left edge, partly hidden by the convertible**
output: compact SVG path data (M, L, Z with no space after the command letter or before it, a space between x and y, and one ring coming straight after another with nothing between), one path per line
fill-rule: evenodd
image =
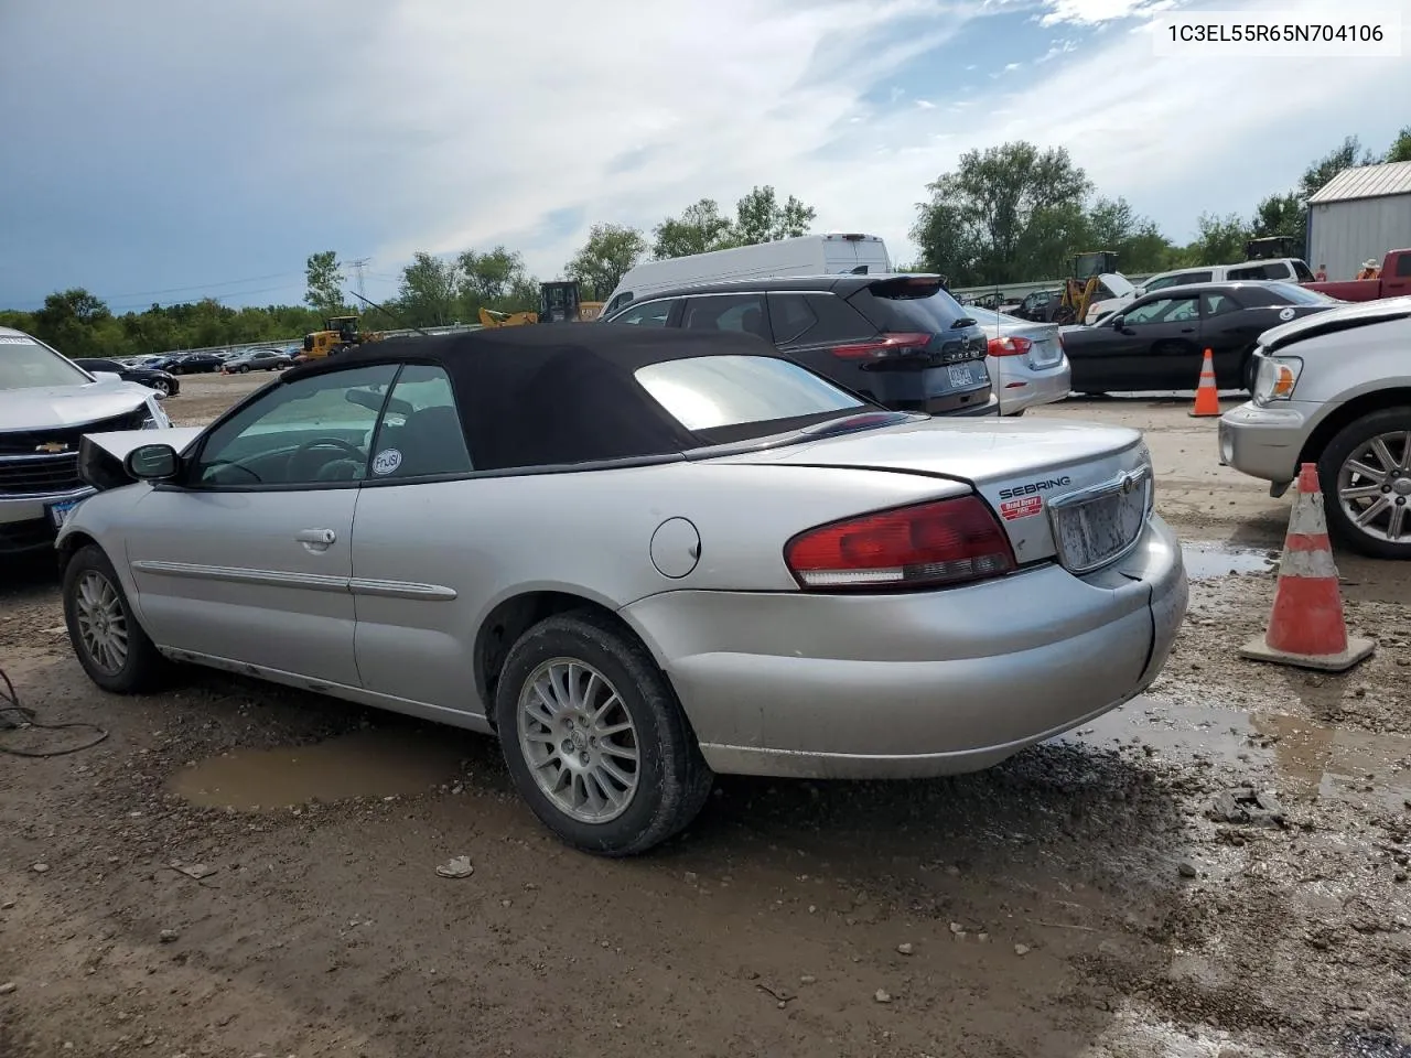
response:
M155 391L89 374L0 327L0 557L51 552L63 519L93 494L79 478L83 434L169 426Z

